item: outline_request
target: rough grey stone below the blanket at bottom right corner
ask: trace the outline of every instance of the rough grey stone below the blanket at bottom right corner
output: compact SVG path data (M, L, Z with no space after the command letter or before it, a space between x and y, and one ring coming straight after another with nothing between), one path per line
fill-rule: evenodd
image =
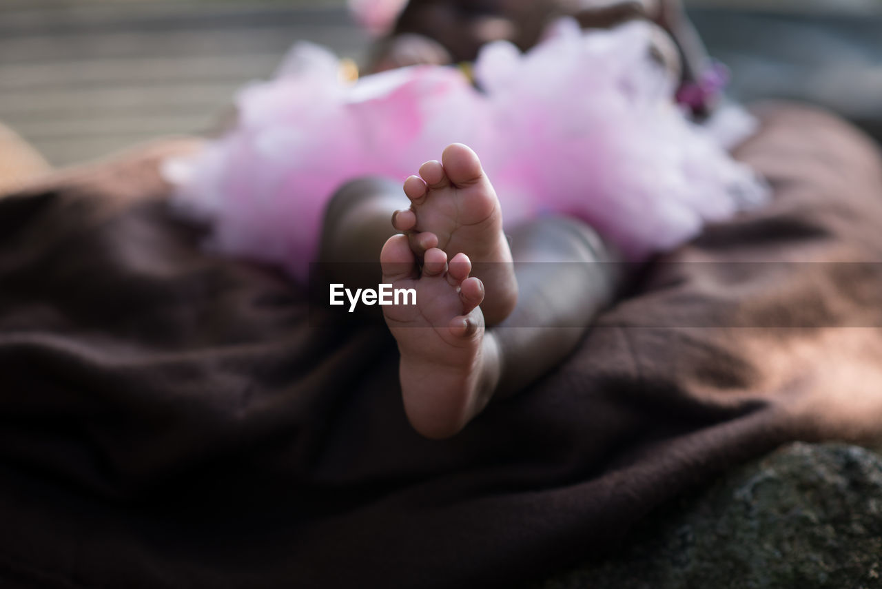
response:
M650 518L543 589L882 587L882 456L793 444Z

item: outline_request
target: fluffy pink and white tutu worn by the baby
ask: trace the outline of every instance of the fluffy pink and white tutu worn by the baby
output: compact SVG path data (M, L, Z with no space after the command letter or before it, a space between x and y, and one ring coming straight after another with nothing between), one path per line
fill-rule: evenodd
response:
M438 66L344 82L333 54L299 44L273 81L240 93L234 130L167 175L183 209L213 223L214 248L303 279L335 190L403 181L459 142L481 156L507 224L573 215L644 259L766 199L724 145L750 118L730 112L722 133L691 123L649 43L642 23L585 33L564 20L526 54L484 48L480 90Z

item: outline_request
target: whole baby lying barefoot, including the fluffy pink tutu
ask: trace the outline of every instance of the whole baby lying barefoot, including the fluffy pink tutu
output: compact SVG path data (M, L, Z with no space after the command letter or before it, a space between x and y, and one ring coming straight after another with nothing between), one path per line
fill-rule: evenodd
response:
M235 128L169 168L179 202L213 221L217 250L295 280L318 250L324 278L350 293L381 277L415 293L381 307L404 406L424 436L452 436L572 352L624 279L615 262L762 201L751 171L675 105L691 67L667 6L415 0L377 69L435 65L353 83L333 54L298 45L275 80L240 93ZM638 18L654 28L579 31ZM474 78L437 66L492 40L512 42L486 46ZM409 203L400 181L365 177L404 178L421 155L440 157L404 182Z

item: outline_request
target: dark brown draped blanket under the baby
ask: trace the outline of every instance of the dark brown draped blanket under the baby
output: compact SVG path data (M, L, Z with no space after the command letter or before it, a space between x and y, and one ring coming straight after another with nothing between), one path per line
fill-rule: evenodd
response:
M519 585L778 444L879 436L882 161L831 116L763 116L740 156L774 204L443 443L381 326L198 248L163 148L0 200L0 585Z

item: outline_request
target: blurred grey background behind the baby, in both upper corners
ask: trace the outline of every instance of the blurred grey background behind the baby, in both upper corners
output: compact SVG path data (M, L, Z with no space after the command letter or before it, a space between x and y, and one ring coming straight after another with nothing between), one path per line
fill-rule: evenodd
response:
M882 0L691 0L737 98L825 105L882 138ZM203 132L296 40L363 59L343 0L0 0L0 121L55 166Z

